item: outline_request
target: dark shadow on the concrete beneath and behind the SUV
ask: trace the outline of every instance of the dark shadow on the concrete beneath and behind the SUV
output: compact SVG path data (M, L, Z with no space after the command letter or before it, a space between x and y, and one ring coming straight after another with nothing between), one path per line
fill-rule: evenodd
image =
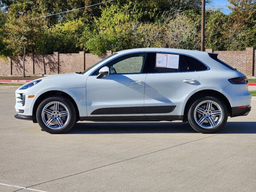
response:
M196 133L182 122L78 122L66 134ZM256 122L227 122L218 134L256 133Z

